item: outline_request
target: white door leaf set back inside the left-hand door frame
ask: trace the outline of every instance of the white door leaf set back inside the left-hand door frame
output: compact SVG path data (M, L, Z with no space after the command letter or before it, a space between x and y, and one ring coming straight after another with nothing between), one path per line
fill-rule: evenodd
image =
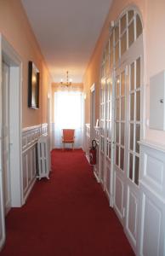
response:
M11 207L10 193L10 143L9 143L9 66L3 62L3 127L2 127L2 160L3 160L3 195L5 214Z

